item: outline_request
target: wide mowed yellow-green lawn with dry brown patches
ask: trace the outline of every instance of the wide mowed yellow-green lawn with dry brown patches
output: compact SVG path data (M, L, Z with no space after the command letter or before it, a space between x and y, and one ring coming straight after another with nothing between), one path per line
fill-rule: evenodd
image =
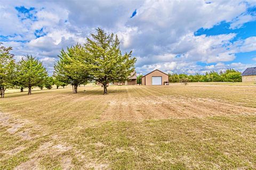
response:
M102 92L10 90L0 100L0 169L256 168L255 84Z

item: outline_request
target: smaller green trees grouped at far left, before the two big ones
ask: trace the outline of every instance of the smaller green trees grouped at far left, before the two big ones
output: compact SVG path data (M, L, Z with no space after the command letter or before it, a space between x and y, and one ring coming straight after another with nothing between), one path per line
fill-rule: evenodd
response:
M1 44L0 44L1 45ZM12 48L0 46L0 92L1 98L7 88L19 87L21 92L28 88L28 95L31 95L33 87L51 89L53 84L65 86L63 83L47 76L47 71L42 62L33 56L25 56L15 63Z

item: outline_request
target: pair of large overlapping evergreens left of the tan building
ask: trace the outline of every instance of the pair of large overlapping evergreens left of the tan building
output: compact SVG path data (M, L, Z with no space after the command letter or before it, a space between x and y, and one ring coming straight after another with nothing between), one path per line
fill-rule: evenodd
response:
M77 44L62 49L59 61L54 66L53 76L73 87L88 81L96 81L103 86L103 95L107 94L107 84L124 82L134 71L136 58L132 52L122 54L119 49L119 39L113 33L107 35L102 29L97 34L91 34L84 45Z

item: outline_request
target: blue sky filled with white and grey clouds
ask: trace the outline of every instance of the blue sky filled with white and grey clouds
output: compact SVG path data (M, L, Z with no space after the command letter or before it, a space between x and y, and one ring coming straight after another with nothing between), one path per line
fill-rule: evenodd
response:
M137 73L204 73L256 66L256 0L3 1L0 42L19 60L31 54L51 74L61 48L95 28L133 51Z

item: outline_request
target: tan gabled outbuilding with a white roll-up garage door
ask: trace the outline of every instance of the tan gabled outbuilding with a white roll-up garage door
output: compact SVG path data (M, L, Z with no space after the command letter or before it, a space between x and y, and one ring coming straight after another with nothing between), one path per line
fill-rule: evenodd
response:
M141 78L142 85L165 85L169 84L168 74L160 71L154 70Z

